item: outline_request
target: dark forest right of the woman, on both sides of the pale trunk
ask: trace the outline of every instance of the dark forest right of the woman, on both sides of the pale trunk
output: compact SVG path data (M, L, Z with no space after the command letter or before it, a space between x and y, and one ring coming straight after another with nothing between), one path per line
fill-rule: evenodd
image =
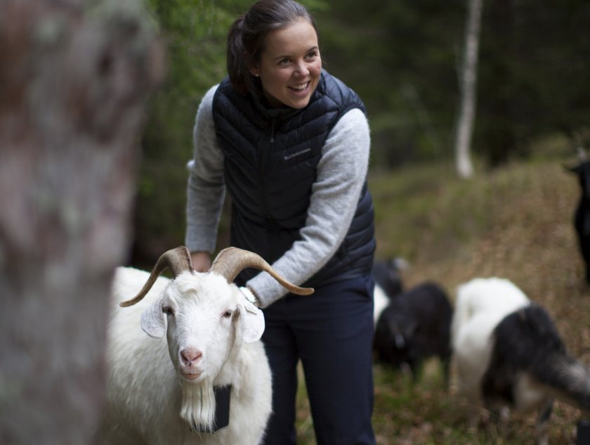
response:
M454 155L467 0L331 2L327 67L360 93L374 166ZM530 155L539 136L590 122L590 4L484 1L474 146L487 165Z

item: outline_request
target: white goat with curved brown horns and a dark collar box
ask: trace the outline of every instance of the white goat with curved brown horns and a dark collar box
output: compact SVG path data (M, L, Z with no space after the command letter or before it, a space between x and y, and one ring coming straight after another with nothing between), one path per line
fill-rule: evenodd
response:
M159 277L167 267L172 280ZM208 273L192 270L185 247L164 253L150 274L117 270L101 443L261 442L272 392L258 341L264 317L232 283L247 267L267 271L291 292L313 292L288 283L258 255L234 247L220 252ZM135 298L122 301L141 285ZM226 404L216 404L216 396L228 394L228 388L229 414ZM222 428L227 415L228 426Z

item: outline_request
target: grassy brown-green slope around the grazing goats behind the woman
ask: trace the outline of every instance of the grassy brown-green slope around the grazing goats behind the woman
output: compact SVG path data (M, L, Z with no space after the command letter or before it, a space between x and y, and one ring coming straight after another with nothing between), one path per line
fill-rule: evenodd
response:
M454 301L459 283L501 276L553 316L570 352L590 366L590 290L583 283L572 216L579 190L560 160L515 163L463 181L429 165L369 179L377 258L405 257L405 285L435 280ZM426 361L421 378L374 366L374 430L380 445L535 444L535 418L470 426L469 406ZM299 444L315 444L305 390L298 398ZM549 421L551 444L575 444L582 413L563 402Z

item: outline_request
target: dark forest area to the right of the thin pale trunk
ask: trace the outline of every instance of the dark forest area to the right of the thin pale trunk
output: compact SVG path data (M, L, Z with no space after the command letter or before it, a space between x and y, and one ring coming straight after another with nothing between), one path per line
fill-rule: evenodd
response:
M590 5L484 2L476 147L488 164L530 154L532 139L589 128ZM573 141L572 141L573 142ZM570 143L572 143L570 142Z

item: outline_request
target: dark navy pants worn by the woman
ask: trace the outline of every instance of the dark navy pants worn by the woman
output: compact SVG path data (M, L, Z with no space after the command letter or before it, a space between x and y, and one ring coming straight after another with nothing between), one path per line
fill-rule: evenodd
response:
M294 445L297 370L303 365L317 445L374 445L373 288L362 276L289 294L264 309L273 372L265 445Z

